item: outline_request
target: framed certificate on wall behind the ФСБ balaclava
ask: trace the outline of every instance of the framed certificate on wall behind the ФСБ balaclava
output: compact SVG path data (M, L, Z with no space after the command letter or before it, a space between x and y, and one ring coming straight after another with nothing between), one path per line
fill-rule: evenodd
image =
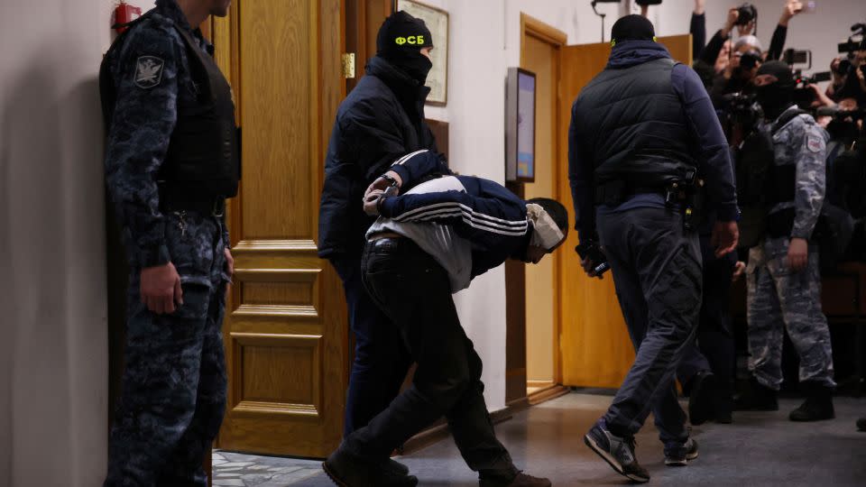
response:
M448 103L448 13L440 8L415 0L398 0L397 10L405 11L427 24L433 34L433 69L427 77L430 95L428 105L446 106Z

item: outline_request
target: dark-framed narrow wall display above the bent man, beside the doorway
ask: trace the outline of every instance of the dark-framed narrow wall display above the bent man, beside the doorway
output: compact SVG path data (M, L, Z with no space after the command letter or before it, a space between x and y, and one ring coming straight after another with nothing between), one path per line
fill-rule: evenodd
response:
M505 180L535 181L535 73L509 68L505 89Z

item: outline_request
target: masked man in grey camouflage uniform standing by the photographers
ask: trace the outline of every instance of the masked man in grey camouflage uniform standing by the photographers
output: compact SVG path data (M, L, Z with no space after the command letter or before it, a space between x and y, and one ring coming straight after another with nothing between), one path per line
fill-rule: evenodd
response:
M800 357L806 402L792 421L834 418L833 354L821 311L818 248L810 241L825 200L825 131L794 104L796 81L788 64L769 61L755 78L764 112L760 135L768 139L769 212L747 270L749 388L739 410L778 410L785 330Z

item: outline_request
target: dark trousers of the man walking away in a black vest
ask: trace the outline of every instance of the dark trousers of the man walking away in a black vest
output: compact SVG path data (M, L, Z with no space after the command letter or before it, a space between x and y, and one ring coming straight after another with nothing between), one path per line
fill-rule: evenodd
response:
M599 212L598 222L636 351L604 420L613 434L633 435L651 409L663 442L685 441L673 378L701 307L697 235L685 234L682 216L666 208Z

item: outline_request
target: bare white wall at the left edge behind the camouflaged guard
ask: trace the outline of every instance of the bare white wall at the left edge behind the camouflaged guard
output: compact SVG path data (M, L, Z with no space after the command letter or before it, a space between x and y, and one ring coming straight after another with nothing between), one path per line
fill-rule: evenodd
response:
M0 486L99 485L112 0L0 4Z

